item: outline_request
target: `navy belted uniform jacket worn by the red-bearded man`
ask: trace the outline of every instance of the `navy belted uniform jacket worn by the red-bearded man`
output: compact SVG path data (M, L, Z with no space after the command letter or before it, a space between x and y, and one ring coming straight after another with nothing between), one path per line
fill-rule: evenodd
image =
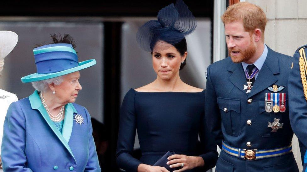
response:
M210 132L221 148L222 141L240 149L276 149L289 146L293 131L289 112L265 111L265 93L272 85L285 86L278 93L287 93L288 75L292 57L277 53L268 47L266 60L259 71L250 93L243 90L247 85L241 63L231 58L215 62L207 69L205 115ZM286 102L286 106L288 101ZM226 112L224 111L227 109ZM280 119L283 128L271 132L268 122ZM251 125L247 121L251 120ZM250 142L251 146L247 146ZM247 160L221 151L216 171L298 171L293 153L282 156Z

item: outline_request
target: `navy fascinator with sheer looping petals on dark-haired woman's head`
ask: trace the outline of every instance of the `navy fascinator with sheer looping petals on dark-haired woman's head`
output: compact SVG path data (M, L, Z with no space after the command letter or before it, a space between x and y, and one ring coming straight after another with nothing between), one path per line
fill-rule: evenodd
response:
M158 13L158 20L146 22L137 32L137 43L148 52L153 50L157 41L169 44L179 43L197 26L195 17L182 0L177 0L162 8Z

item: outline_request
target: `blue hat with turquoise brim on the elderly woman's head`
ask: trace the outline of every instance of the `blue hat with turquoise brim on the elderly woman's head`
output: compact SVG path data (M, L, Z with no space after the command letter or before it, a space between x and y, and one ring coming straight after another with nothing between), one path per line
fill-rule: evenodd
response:
M23 83L42 81L73 73L96 64L95 59L78 62L71 44L48 44L33 50L37 73L21 78Z

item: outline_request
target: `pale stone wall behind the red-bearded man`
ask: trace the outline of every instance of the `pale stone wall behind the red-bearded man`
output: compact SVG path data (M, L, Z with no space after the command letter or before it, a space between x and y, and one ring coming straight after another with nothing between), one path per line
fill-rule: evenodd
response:
M246 0L259 5L268 18L265 44L271 49L293 56L295 50L307 44L307 0ZM292 141L293 153L302 170L299 143Z

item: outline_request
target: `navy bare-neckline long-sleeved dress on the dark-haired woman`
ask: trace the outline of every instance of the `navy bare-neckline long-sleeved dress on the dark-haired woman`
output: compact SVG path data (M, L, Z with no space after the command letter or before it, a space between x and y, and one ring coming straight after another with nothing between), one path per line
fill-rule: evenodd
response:
M205 126L204 93L138 92L130 89L122 103L116 161L121 169L137 171L139 164L153 165L167 151L200 156L206 171L218 158L216 144ZM136 130L141 159L132 157ZM198 135L201 149L197 149Z

